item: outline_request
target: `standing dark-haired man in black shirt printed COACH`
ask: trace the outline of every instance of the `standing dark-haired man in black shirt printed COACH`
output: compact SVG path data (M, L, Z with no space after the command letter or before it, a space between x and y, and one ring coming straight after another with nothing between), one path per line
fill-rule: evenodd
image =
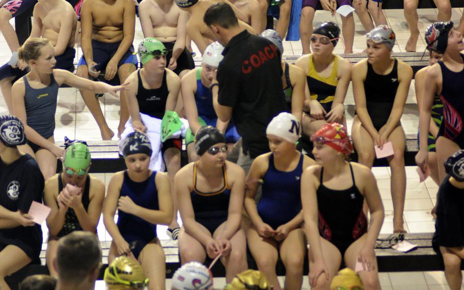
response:
M280 52L267 39L242 31L228 4L211 6L203 20L225 46L217 82L213 80L211 85L214 109L224 122L234 117L243 142L238 163L247 171L251 159L269 152L268 123L288 108L282 90Z

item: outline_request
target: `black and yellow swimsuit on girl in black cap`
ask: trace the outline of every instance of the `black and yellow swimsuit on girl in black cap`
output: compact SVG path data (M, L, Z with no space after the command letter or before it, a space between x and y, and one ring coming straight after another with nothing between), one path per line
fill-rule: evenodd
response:
M339 56L333 59L333 68L330 76L323 78L314 67L313 55L308 61L308 73L306 81L310 88L311 100L317 100L328 113L332 109L332 102L337 90Z

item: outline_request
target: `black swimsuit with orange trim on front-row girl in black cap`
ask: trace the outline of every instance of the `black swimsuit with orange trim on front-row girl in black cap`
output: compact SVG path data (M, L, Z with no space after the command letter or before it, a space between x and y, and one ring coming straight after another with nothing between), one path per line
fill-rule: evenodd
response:
M196 166L197 162L193 164L193 190L190 192L195 221L213 234L223 222L227 221L230 199L227 171L224 165L222 167L224 185L221 189L214 192L201 192L196 188Z

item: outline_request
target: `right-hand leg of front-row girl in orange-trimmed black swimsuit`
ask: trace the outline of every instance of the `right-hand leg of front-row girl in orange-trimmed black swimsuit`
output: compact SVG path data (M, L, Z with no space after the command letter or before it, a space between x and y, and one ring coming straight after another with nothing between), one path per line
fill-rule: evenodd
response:
M214 237L217 238L222 234L225 223L222 223L216 231ZM248 261L246 259L246 236L245 231L241 228L230 238L230 254L221 257L221 262L225 267L225 281L232 282L237 274L248 269Z

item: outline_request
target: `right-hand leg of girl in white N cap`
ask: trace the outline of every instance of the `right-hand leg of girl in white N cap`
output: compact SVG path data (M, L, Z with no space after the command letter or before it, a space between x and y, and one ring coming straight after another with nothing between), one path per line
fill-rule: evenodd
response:
M305 253L306 239L303 229L294 229L280 244L280 257L285 265L286 290L301 289Z

